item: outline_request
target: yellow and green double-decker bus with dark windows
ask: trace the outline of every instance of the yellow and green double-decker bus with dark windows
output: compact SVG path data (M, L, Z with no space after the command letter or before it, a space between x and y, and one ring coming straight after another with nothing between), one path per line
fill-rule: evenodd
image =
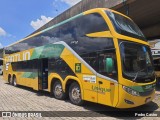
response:
M127 16L106 8L85 11L5 48L4 79L50 92L71 103L117 108L155 95L149 44Z

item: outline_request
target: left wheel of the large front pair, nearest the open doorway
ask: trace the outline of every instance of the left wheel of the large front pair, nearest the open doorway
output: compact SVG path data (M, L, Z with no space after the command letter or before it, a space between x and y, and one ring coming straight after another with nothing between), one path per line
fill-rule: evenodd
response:
M66 96L62 89L62 84L60 81L56 81L54 83L52 92L54 97L59 100L63 100Z

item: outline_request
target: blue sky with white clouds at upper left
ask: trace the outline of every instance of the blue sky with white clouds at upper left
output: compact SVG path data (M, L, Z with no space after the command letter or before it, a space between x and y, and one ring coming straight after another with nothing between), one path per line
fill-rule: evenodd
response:
M81 0L0 0L0 48L34 32Z

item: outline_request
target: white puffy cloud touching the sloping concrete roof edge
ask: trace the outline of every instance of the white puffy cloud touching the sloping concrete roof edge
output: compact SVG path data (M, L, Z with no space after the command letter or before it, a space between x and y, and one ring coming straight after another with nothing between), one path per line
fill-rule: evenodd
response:
M40 19L37 19L36 21L31 21L30 25L37 30L38 28L42 27L44 24L48 23L50 20L52 20L52 17L46 17L44 15L41 15Z

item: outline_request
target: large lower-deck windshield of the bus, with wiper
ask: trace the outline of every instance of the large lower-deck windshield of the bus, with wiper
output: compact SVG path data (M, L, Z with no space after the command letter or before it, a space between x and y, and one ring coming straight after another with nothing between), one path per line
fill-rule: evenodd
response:
M123 76L135 82L154 81L154 68L150 48L132 42L121 42Z

